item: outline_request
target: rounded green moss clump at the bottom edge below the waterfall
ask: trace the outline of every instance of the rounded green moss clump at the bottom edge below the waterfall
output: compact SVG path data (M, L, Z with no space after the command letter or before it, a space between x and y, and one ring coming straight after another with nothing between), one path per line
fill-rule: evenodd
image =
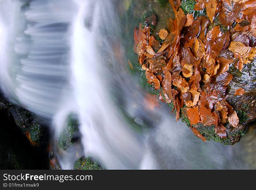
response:
M75 170L102 170L105 167L101 166L99 162L91 157L79 158L74 166Z

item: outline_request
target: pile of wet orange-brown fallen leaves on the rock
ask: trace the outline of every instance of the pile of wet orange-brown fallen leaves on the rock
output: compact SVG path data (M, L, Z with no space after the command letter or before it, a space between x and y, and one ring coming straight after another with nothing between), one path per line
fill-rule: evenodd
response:
M167 30L151 35L150 26L156 17L147 18L147 25L134 30L134 51L145 75L160 100L173 103L176 120L180 114L190 124L215 126L215 133L226 138L227 122L237 128L237 112L225 100L227 85L233 79L228 73L234 65L240 71L256 56L256 1L197 0L194 10L206 9L205 16L194 17L181 1L169 1L175 19L167 19ZM217 20L220 24L216 24ZM243 95L242 88L235 95ZM192 131L205 141L195 127Z

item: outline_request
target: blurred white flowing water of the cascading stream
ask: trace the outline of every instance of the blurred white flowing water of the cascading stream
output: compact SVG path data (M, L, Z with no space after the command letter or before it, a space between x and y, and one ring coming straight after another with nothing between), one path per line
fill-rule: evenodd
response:
M142 12L130 0L1 0L2 91L49 123L53 142L76 115L82 149L55 143L62 169L81 154L107 169L255 168L255 131L234 146L202 142L140 85L128 64L134 2Z

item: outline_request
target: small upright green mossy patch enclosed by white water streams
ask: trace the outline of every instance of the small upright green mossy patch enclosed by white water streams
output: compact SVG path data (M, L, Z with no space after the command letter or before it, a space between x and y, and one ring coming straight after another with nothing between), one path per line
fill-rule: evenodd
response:
M78 131L78 122L77 122L77 119L70 116L68 120L67 128L59 137L58 142L61 149L66 150L67 147L70 144L72 144L73 133L75 131Z

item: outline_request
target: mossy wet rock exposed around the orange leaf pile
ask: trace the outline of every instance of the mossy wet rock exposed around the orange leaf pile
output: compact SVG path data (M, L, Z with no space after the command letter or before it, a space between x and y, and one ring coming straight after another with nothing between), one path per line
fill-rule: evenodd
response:
M144 1L143 1L144 2ZM153 33L151 35L154 35L157 37L157 32L161 28L167 28L166 26L166 19L167 18L174 18L173 10L170 7L170 3L166 3L163 0L159 1L147 1L143 3L131 3L130 8L128 9L128 15L131 14L131 18L133 21L139 21L139 19L136 19L138 17L141 17L142 19L145 17L150 16L151 14L155 14L157 17L157 24L153 28ZM206 10L202 11L194 11L193 8L195 6L195 1L193 0L182 0L181 1L181 8L187 13L193 13L194 18L200 16L200 15L206 15ZM139 8L140 6L144 6ZM136 7L137 6L137 7ZM135 11L134 11L135 10ZM136 11L137 10L137 11ZM141 10L144 10L141 11ZM166 11L169 11L168 14ZM133 13L129 13L133 11ZM206 16L207 17L207 16ZM126 18L126 17L125 17ZM134 19L135 18L135 19ZM127 19L127 18L126 18ZM127 20L126 20L127 21ZM129 20L128 20L129 21ZM131 28L131 31L129 35L126 36L131 36L133 34L133 27L131 24L134 24L134 22L127 22L128 23L128 29ZM143 21L142 21L143 22ZM141 22L138 22L141 23ZM137 23L137 24L138 24ZM130 25L129 25L130 24ZM218 17L214 20L213 23L209 24L208 30L210 30L212 27L220 25L221 30L223 32L227 31L227 28L223 25L218 20ZM126 28L126 29L127 29ZM138 25L137 25L138 28ZM127 30L126 30L127 32ZM161 89L155 90L153 86L150 86L150 84L147 83L147 79L145 78L145 71L143 71L139 64L138 64L138 56L134 54L133 50L133 39L125 39L125 41L131 41L131 44L129 44L130 49L127 50L128 52L128 59L131 61L131 64L134 69L131 70L132 73L139 73L141 76L141 86L143 86L145 89L147 89L148 92L152 94L157 94L162 93ZM136 57L134 57L134 55ZM237 115L239 117L239 124L237 128L234 128L230 126L229 123L225 125L226 132L227 132L227 138L226 139L221 139L218 137L215 132L214 132L214 126L202 126L202 124L198 123L195 126L200 133L205 135L206 140L215 140L217 142L221 142L223 144L235 144L236 142L239 142L241 136L243 136L246 132L246 127L250 122L254 122L256 117L256 60L252 61L250 64L246 64L243 67L243 70L240 72L237 70L234 65L231 65L228 72L231 73L234 76L234 79L230 82L230 84L227 86L227 96L225 97L226 101L229 102L230 105L233 106L234 110L237 111ZM238 88L244 88L245 89L245 94L242 96L235 96L234 92ZM163 94L162 94L163 95ZM171 108L173 108L173 104L168 104ZM180 118L183 122L186 123L187 126L191 127L191 124L184 115L182 115L182 111L180 113Z

